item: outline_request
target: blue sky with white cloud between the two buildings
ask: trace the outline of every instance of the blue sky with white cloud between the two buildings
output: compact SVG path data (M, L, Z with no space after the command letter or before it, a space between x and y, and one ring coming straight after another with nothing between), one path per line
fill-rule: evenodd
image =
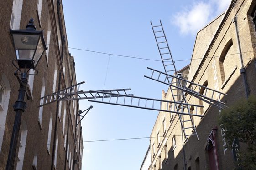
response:
M72 48L161 60L150 21L162 20L173 60L179 70L189 64L198 30L230 0L65 0L68 46ZM161 99L167 90L144 75L146 67L162 70L162 62L69 49L74 56L80 90L131 88L131 94ZM188 61L177 61L186 60ZM149 137L158 112L79 101L81 110L94 108L82 120L83 170L138 170L149 139L87 142Z

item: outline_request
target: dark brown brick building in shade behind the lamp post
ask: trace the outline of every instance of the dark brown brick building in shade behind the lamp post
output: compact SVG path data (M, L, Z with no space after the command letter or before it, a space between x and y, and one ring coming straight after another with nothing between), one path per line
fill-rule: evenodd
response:
M40 97L76 84L74 59L68 43L61 0L0 1L0 170L5 170L19 83L13 75L15 52L10 29L25 29L32 17L44 30L48 50L29 75L27 108L22 115L16 170L79 170L83 152L81 125L76 126L78 102L58 101L38 108ZM35 71L30 70L29 74ZM78 117L79 121L79 117Z

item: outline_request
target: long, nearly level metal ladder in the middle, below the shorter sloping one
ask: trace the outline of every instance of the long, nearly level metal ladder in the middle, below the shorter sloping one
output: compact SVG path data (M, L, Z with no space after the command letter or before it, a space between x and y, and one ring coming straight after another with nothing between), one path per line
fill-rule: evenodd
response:
M110 104L110 105L121 105L121 106L134 107L134 108L147 109L147 110L157 110L157 111L163 111L163 112L176 113L180 115L192 115L189 112L183 111L182 108L193 106L196 108L196 110L198 110L198 107L204 107L201 105L180 103L180 102L174 102L169 100L151 99L151 98L138 97L133 95L122 95L122 94L117 94L113 92L93 91L93 90L90 90L90 92L101 94L100 96L102 96L101 98L95 97L94 100L92 99L88 100L91 102L98 102L98 103L104 103L104 104ZM106 98L105 96L110 96L110 97ZM112 96L115 96L115 98L113 99ZM176 110L175 108L181 108L181 109ZM193 116L204 117L203 115L193 115Z

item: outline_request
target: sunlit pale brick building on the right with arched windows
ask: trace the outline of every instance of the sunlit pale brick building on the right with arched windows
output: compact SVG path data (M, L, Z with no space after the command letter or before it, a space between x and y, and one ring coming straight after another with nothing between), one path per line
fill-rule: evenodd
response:
M255 18L255 0L230 1L225 13L199 30L191 63L183 69L184 73L188 70L187 80L226 93L227 95L220 100L227 106L236 100L246 98L246 91L249 95L256 95ZM245 79L243 68L246 73ZM193 90L200 91L206 96L212 95L204 89ZM218 97L214 96L215 99ZM172 100L170 89L162 92L162 99ZM187 142L178 115L159 112L151 134L151 166L148 169L235 169L236 162L232 152L225 148L225 131L220 129L217 122L221 110L191 95L186 95L186 99L190 104L204 106L197 110L197 114L204 115L203 118L193 116L199 140L196 135L191 135ZM190 113L195 112L190 107ZM186 116L188 115L183 115L183 118ZM183 123L183 126L186 127L186 123Z

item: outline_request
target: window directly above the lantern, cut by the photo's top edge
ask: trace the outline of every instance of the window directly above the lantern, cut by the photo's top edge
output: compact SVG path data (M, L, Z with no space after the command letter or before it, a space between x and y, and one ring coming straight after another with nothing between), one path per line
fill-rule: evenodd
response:
M20 28L22 4L23 0L13 0L12 13L10 19L10 28L12 30Z

